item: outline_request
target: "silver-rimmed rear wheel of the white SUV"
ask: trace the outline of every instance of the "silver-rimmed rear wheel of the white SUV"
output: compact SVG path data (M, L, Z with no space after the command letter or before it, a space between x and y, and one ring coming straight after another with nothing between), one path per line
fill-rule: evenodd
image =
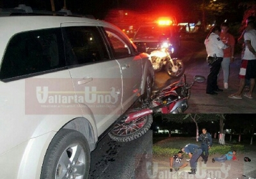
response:
M88 178L90 148L86 138L76 130L61 129L47 149L41 171L45 178Z

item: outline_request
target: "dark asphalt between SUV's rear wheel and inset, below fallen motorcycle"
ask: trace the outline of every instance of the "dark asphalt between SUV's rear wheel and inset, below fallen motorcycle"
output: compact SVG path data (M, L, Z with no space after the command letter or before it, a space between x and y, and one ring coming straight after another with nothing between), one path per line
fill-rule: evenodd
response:
M106 135L91 153L90 179L147 179L152 164L152 130L140 138L118 143Z

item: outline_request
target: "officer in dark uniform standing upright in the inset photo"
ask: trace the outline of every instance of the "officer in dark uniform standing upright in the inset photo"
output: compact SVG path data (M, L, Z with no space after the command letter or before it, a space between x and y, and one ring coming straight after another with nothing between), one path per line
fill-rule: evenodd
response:
M208 155L209 155L209 149L212 146L212 136L209 132L207 132L206 128L202 129L202 134L198 137L198 141L201 142L201 148L202 148L202 158L204 163L207 163Z

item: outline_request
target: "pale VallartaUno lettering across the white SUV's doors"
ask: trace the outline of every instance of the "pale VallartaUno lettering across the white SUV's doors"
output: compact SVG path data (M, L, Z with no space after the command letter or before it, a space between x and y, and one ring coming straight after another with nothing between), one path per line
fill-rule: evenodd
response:
M76 93L77 95L72 95L72 91L49 91L48 86L36 86L36 99L40 104L116 104L120 89L112 87L111 91L97 91L96 86L86 86L84 91Z

